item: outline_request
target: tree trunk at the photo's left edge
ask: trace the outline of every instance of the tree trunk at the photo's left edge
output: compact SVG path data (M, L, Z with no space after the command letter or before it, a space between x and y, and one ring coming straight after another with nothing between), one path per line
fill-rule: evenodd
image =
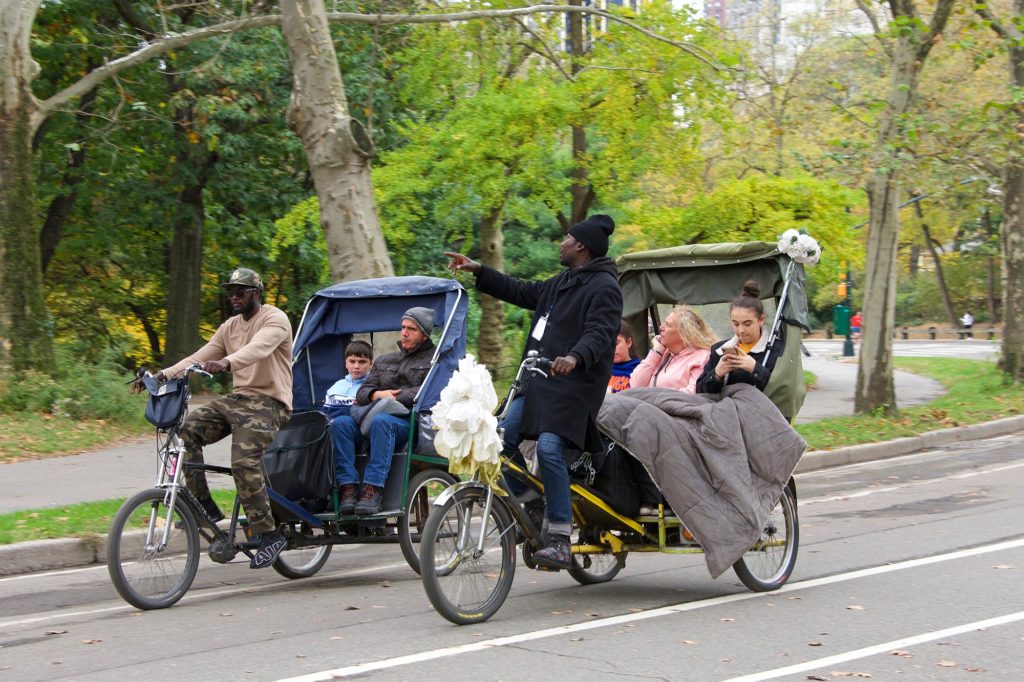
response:
M0 3L0 367L53 370L53 340L43 294L32 163L29 51L39 0Z

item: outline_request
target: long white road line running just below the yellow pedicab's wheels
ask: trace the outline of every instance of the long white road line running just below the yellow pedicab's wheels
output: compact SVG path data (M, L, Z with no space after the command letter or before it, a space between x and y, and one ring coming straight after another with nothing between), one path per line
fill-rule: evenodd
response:
M318 673L310 673L308 675L300 675L298 677L285 678L279 680L278 682L323 682L327 680L337 679L339 677L351 677L353 675L362 675L376 670L399 668L401 666L408 666L416 663L423 663L425 660L435 660L437 658L446 658L450 656L462 655L464 653L484 651L499 646L510 646L512 644L520 644L522 642L529 642L538 639L545 639L548 637L557 637L559 635L567 635L577 632L584 632L587 630L595 630L598 628L610 628L626 623L635 623L637 621L648 621L650 619L662 617L663 615L672 615L673 613L693 611L700 608L708 608L710 606L718 606L720 604L729 604L736 601L745 601L748 599L758 599L769 594L775 595L785 592L797 592L800 590L807 590L810 588L821 587L823 585L845 583L847 581L858 580L861 578L880 576L883 573L889 573L896 570L906 570L907 568L916 568L919 566L926 566L929 564L940 563L943 561L952 561L954 559L975 557L975 556L980 556L982 554L988 554L990 552L1000 552L1004 550L1017 549L1019 547L1024 547L1024 538L1002 543L996 543L995 545L976 547L969 550L959 550L956 552L950 552L948 554L937 554L935 556L924 557L921 559L911 559L908 561L901 561L899 563L893 563L884 566L863 568L860 570L851 571L849 573L840 573L838 576L817 578L810 581L803 581L801 583L792 583L790 585L784 586L780 590L776 590L775 592L730 594L722 597L714 597L712 599L703 599L701 601L673 604L672 606L663 606L660 608L654 608L648 611L641 611L638 613L625 613L623 615L613 615L606 619L588 621L587 623L577 623L573 625L559 626L557 628L548 628L545 630L535 630L532 632L524 632L518 635L510 635L508 637L498 637L496 639L473 642L472 644L450 646L443 649L435 649L432 651L421 651L419 653L411 653L409 655L396 656L394 658L384 658L382 660L373 660L362 664L356 664L354 666L347 666L345 668L336 668L334 670L326 670L326 671L321 671Z

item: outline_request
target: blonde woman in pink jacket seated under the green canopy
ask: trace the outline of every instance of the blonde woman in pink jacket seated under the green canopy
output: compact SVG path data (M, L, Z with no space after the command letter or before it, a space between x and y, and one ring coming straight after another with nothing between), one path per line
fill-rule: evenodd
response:
M688 305L677 305L662 323L647 357L633 371L631 388L645 386L696 392L697 377L715 343L715 333Z

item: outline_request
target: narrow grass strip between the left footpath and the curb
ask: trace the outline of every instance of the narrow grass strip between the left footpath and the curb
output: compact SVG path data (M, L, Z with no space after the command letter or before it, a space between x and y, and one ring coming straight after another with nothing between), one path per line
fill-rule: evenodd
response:
M234 492L218 489L212 491L212 494L221 511L227 514L234 501ZM105 536L123 502L124 500L101 500L0 514L0 545L52 538Z

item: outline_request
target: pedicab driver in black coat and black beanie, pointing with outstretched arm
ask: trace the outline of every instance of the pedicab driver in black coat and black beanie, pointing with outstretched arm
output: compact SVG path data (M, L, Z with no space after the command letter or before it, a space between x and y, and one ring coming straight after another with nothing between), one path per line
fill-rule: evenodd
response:
M567 269L544 282L516 280L462 254L445 254L453 271L476 275L481 293L534 310L524 353L537 350L554 358L552 376L530 380L505 423L507 449L523 438L537 438L547 532L546 545L534 560L549 568L568 568L572 563L572 506L563 453L569 445L590 451L601 446L597 412L611 376L623 315L617 271L605 256L614 228L606 215L592 215L572 225L559 251L559 261Z

